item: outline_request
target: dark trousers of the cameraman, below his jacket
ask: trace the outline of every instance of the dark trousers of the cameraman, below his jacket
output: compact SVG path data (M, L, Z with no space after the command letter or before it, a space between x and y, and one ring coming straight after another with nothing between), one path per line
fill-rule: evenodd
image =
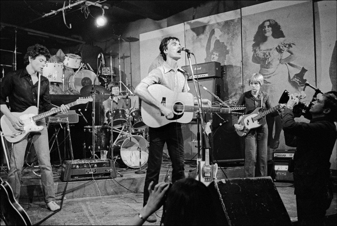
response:
M325 225L326 206L321 199L296 195L298 225Z

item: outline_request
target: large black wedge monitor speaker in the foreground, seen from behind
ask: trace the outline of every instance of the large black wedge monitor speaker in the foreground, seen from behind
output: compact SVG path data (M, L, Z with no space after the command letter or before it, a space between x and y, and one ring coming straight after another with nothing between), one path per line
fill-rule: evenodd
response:
M215 180L208 187L216 225L291 225L270 176Z

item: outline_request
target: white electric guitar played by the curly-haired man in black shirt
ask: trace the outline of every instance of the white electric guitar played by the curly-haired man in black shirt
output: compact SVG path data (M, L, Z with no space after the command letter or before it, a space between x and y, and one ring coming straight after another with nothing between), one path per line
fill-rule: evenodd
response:
M89 101L92 101L92 98L83 98L78 99L74 102L71 102L67 104L67 106L72 107L77 104L85 104ZM50 116L52 114L55 114L57 112L61 111L61 107L54 108L52 110L43 112L39 115L36 115L36 112L38 112L38 109L36 106L30 106L23 112L12 112L12 114L15 117L18 117L21 119L21 121L24 123L23 125L23 131L19 131L14 129L12 124L10 123L9 119L4 115L1 117L0 124L1 129L3 132L3 136L6 138L8 142L17 143L23 140L30 132L37 132L41 131L43 129L43 126L37 126L36 121L39 121L47 116Z

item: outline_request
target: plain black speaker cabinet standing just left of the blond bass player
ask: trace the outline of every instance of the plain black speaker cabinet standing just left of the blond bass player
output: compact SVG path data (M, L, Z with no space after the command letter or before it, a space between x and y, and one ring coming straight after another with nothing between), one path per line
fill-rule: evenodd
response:
M233 120L237 120L237 116L228 114L219 114L219 116L212 114L212 133L210 134L212 155L210 161L213 163L244 162L245 138L235 132L232 123ZM222 123L224 120L228 120L228 122Z

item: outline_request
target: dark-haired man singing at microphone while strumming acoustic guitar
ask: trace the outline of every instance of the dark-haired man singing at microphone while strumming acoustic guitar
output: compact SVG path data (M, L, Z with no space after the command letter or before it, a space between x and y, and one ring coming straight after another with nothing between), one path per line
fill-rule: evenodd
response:
M153 69L140 84L137 85L134 92L147 104L156 107L161 114L167 119L174 117L171 108L164 106L162 102L154 98L148 91L148 87L153 84L161 84L174 92L188 92L187 73L178 67L178 60L181 58L180 41L176 37L167 37L162 39L159 45L160 54L164 59L164 63ZM211 101L207 99L201 100L203 106L211 106ZM194 99L194 104L197 99ZM193 98L192 98L193 104ZM163 147L167 143L168 154L172 161L172 182L185 177L184 174L184 141L181 131L181 124L173 120L166 125L153 128L149 127L150 148L148 157L148 168L146 171L144 186L144 203L145 206L148 198L148 187L153 181L153 186L158 184L159 172L161 167ZM150 215L148 222L155 222L156 216Z

